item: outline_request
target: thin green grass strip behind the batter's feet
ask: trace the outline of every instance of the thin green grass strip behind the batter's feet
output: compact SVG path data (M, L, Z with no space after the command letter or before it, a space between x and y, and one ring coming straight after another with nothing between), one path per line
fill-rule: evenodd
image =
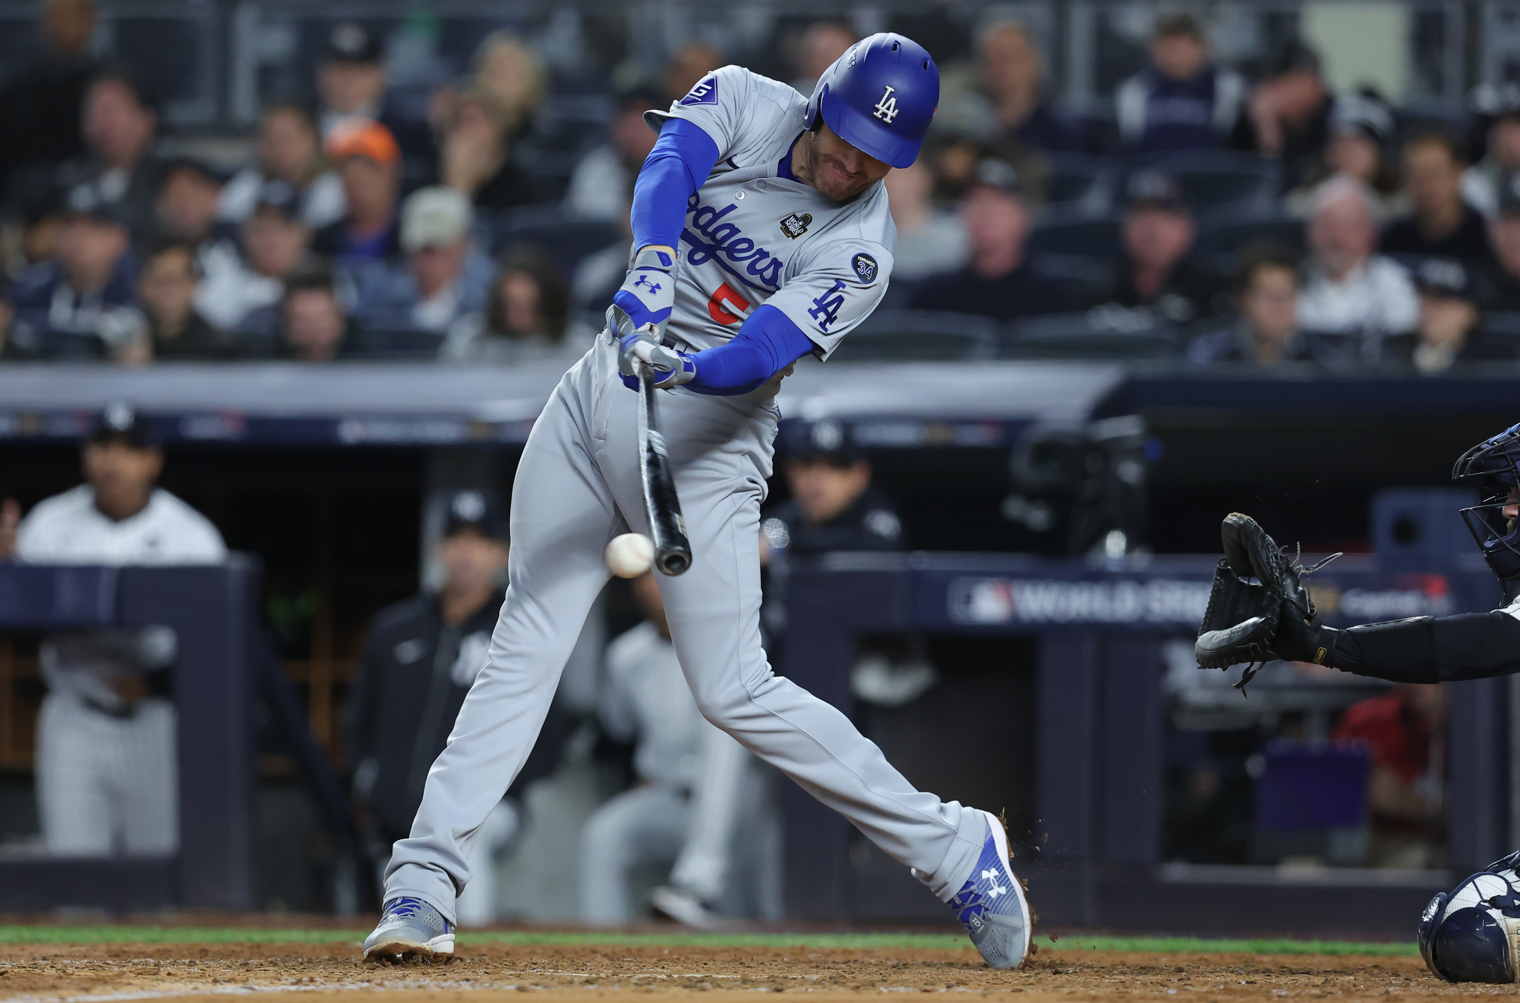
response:
M359 944L368 930L277 930L263 927L137 927L137 925L0 925L0 944ZM617 933L610 930L465 930L461 944L512 944L544 947L812 947L845 950L968 950L956 933ZM1146 954L1418 954L1414 944L1362 944L1354 941L1205 939L1175 936L1085 936L1070 935L1052 944L1037 938L1041 950L1070 953L1137 951Z

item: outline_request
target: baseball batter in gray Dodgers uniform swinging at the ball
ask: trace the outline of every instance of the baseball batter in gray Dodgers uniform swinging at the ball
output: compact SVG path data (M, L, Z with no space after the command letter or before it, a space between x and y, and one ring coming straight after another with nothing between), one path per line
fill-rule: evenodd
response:
M632 267L608 330L565 374L523 450L511 587L412 834L395 843L371 959L453 951L476 831L523 766L591 602L606 543L648 532L635 384L652 366L692 543L663 577L672 640L702 714L841 812L967 925L986 962L1029 950L1029 907L988 812L915 790L850 719L778 678L760 644L760 503L775 392L827 359L886 292L895 231L882 179L918 157L939 70L879 33L810 99L740 67L669 111L634 191Z

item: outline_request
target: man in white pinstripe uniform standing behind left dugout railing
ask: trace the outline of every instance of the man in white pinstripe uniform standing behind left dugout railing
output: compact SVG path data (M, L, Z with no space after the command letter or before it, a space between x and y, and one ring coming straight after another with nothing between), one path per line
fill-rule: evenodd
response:
M27 564L220 564L226 546L193 508L155 486L164 467L150 419L112 404L84 442L85 483L0 505L0 559ZM43 840L61 856L172 854L179 845L173 634L62 634L40 653L36 722Z

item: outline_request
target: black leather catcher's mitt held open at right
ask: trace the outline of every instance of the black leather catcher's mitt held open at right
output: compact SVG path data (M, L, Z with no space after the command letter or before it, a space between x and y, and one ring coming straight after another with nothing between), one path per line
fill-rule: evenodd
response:
M1298 581L1316 571L1339 553L1312 567L1290 562L1277 543L1254 518L1231 512L1221 527L1225 556L1214 568L1214 585L1208 593L1208 608L1198 631L1193 653L1199 669L1228 669L1246 663L1248 669L1236 684L1242 693L1257 673L1256 663L1275 658L1274 644L1284 603L1287 615L1313 619L1315 603ZM1256 582L1246 579L1256 577Z

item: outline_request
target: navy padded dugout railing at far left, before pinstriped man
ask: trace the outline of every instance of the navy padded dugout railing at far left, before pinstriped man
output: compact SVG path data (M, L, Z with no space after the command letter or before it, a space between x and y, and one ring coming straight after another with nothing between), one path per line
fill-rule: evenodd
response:
M0 912L59 906L112 912L187 906L251 909L261 699L340 848L357 831L336 778L307 732L258 619L257 559L207 567L56 567L0 562L0 632L128 626L175 632L179 848L172 856L55 857L0 846Z

